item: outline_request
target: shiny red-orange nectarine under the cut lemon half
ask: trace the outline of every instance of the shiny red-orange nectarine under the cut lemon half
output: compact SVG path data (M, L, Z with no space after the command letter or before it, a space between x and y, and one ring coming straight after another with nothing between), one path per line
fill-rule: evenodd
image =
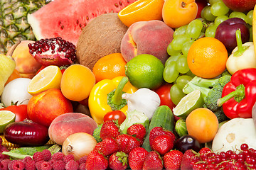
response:
M42 91L28 101L28 118L46 127L58 115L72 112L72 103L63 96L60 89Z

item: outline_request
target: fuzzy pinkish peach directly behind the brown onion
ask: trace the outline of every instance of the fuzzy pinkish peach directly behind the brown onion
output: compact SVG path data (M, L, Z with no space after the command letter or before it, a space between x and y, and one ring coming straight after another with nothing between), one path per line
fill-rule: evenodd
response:
M95 120L88 115L82 113L65 113L59 115L50 123L48 134L50 140L63 145L65 139L77 132L86 132L93 135L93 131L97 128Z

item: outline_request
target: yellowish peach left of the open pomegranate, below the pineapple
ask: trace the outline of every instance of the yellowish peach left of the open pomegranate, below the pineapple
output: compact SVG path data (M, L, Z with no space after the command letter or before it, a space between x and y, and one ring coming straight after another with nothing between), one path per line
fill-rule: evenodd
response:
M22 40L19 44L13 45L6 54L14 58L16 69L20 73L20 76L30 79L41 68L41 64L29 53L28 44L33 42L32 40Z

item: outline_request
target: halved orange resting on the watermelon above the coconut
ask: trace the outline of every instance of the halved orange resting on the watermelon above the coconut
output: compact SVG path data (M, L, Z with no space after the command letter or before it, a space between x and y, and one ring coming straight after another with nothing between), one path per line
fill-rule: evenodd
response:
M138 0L119 11L118 17L128 27L138 21L161 20L163 5L164 0Z

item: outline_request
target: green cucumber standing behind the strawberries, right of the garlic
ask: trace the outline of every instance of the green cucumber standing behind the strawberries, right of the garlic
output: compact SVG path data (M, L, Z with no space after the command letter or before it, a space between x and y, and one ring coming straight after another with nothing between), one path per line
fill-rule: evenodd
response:
M146 132L146 137L142 145L142 147L148 152L151 151L151 147L149 145L149 133L150 130L155 127L162 127L166 130L174 132L174 114L172 113L171 108L168 106L159 106L156 108L156 111L154 112L154 115L149 123L149 129Z

